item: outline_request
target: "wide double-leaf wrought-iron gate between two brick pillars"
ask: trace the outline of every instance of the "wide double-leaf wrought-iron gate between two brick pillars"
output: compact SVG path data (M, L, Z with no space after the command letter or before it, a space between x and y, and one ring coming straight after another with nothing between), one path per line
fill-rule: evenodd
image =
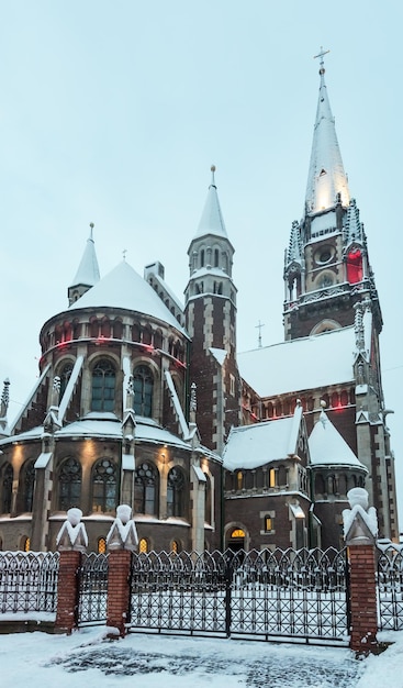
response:
M134 553L128 628L346 641L346 550Z

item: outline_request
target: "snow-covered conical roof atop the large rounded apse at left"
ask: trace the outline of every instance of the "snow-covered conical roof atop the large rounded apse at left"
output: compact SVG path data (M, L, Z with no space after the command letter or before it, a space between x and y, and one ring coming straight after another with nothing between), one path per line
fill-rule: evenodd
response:
M68 310L82 308L120 308L137 311L156 318L186 334L153 287L126 260L116 265L80 299L71 303Z

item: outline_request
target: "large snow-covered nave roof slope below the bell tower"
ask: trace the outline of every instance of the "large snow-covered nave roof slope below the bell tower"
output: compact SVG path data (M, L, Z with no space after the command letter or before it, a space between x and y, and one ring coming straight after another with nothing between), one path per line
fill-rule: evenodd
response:
M354 328L282 342L238 354L242 378L260 397L354 380Z

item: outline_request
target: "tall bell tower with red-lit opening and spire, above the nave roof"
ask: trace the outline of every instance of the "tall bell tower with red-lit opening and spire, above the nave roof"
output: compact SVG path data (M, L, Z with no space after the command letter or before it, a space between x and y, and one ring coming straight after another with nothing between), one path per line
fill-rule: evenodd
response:
M338 146L320 58L320 93L304 214L293 222L284 258L284 339L352 325L355 303L370 299L374 326L382 314L369 263L367 237Z

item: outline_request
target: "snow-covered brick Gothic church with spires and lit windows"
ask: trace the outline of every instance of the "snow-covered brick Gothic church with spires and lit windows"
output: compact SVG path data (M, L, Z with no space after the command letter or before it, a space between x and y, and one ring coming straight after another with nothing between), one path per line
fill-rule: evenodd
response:
M237 352L235 249L214 167L184 306L159 262L142 277L124 259L101 278L91 225L12 422L3 385L0 548L54 550L79 507L89 550L102 552L120 503L143 552L338 547L356 486L380 536L398 537L382 314L323 55L304 213L286 251L284 341Z

